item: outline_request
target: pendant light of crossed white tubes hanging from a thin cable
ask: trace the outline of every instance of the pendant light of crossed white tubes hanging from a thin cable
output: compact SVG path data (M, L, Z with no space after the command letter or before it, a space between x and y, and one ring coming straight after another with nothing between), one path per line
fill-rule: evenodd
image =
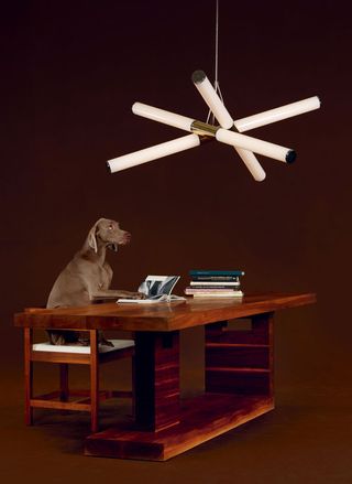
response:
M216 12L215 84L212 85L210 83L204 71L196 71L191 76L195 87L198 89L199 94L209 107L207 122L166 111L164 109L142 103L134 103L132 106L133 114L153 121L158 121L164 125L182 129L184 131L188 131L191 135L109 160L107 165L111 173L196 148L205 140L217 140L221 143L232 146L256 181L263 181L265 179L265 172L254 153L262 154L284 163L293 163L295 161L296 152L293 149L263 141L257 138L243 135L243 132L318 109L320 108L319 97L309 97L308 99L280 106L278 108L249 116L246 118L233 120L223 104L218 82L218 33L219 0L217 0ZM208 122L210 115L212 115L212 123ZM216 119L219 125L215 125Z

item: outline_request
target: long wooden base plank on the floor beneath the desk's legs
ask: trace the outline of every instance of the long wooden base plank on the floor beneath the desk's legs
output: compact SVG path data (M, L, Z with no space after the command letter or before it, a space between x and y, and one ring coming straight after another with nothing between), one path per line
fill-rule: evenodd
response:
M166 461L273 408L273 401L266 397L207 394L183 404L180 423L176 427L141 432L125 422L89 435L85 454Z

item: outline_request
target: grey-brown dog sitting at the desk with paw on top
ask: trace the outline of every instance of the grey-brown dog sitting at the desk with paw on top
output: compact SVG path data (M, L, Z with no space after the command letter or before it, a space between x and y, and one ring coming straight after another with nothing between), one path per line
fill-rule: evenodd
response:
M131 240L131 234L122 230L118 222L100 218L89 230L82 248L74 256L56 279L50 293L46 308L68 308L87 305L103 299L132 298L142 299L140 292L109 289L112 269L106 260L107 248L114 251ZM48 331L54 345L89 344L75 331ZM112 346L102 332L99 343Z

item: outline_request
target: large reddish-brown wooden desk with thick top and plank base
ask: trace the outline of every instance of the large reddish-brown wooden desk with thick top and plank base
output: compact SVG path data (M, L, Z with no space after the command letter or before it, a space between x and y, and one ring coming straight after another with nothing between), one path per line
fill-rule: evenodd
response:
M135 332L135 422L86 439L87 455L165 461L274 409L274 312L316 302L312 293L20 313L22 327ZM249 319L251 327L228 327ZM205 325L204 395L180 400L179 331Z

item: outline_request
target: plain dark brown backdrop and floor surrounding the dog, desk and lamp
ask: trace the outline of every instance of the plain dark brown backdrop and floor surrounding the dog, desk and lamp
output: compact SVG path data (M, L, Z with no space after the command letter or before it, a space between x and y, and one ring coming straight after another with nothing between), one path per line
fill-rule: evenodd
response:
M41 481L44 466L55 469L53 482L67 470L85 481L138 481L148 472L163 482L348 482L349 2L220 0L219 80L235 118L322 99L319 111L251 133L298 152L290 166L261 159L262 183L216 142L121 173L106 170L108 159L183 136L133 116L134 101L206 119L190 75L201 68L213 79L213 1L13 3L1 34L6 475ZM132 233L132 244L110 257L116 288L135 290L147 273L179 273L182 293L191 268L241 268L245 292L318 293L317 305L277 316L273 415L162 465L81 458L86 417L73 419L74 431L44 415L38 427L23 428L21 334L12 314L45 303L101 216ZM185 387L201 364L199 338L184 335Z

